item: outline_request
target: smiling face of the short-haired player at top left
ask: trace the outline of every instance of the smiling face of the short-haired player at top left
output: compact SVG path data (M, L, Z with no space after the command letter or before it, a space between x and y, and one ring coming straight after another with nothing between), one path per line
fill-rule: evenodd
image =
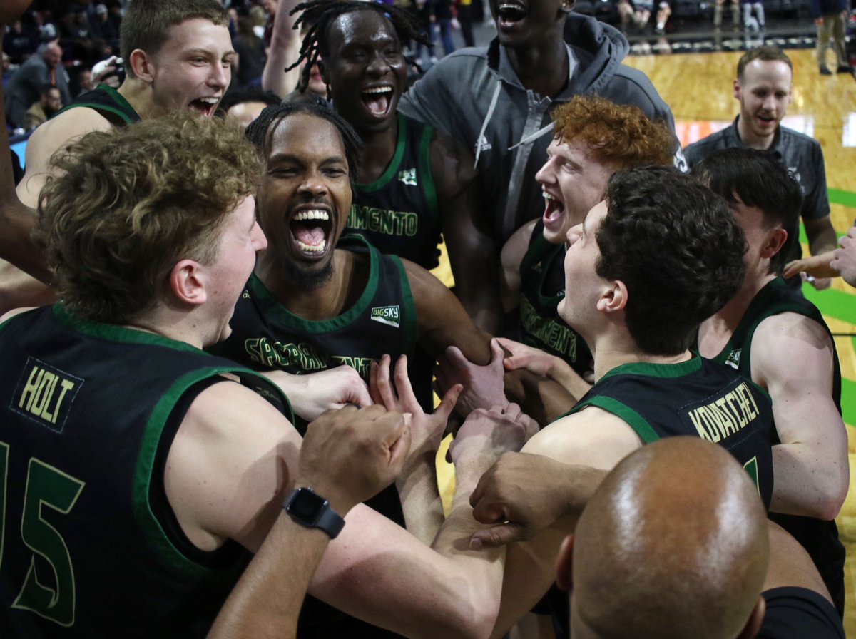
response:
M148 56L155 109L214 115L229 86L234 56L224 25L192 18L169 27L163 46Z

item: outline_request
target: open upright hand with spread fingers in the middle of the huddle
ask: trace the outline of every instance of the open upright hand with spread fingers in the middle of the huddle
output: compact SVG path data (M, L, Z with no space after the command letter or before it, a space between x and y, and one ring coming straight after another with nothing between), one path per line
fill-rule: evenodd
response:
M449 421L449 414L455 408L455 402L461 394L461 384L454 384L449 388L437 409L431 414L425 414L413 394L413 387L407 376L407 356L402 355L398 358L392 379L389 375L389 364L389 355L384 355L379 362L372 362L372 370L369 374L369 391L372 399L389 411L399 411L410 416L411 453L436 453L443 438L446 423Z

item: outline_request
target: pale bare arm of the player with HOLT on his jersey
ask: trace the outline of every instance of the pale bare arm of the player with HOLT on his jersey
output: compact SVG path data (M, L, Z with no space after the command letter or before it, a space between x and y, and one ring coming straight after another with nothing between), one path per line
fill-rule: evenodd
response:
M351 409L345 409L351 410ZM370 406L363 411L383 411ZM200 548L227 537L256 550L291 488L300 437L234 382L199 393L167 460L169 503ZM460 512L458 518L469 518ZM478 524L439 554L366 506L348 513L312 578L312 595L405 636L483 637L496 618L499 555L459 552ZM371 584L371 588L367 588Z

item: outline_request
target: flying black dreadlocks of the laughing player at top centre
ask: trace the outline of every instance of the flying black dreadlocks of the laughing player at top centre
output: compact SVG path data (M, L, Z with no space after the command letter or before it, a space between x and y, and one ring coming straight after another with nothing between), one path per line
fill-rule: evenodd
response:
M422 32L419 18L394 4L382 4L365 2L365 0L309 0L300 3L291 10L292 14L302 11L303 13L294 21L294 28L306 27L306 35L300 46L300 57L285 70L297 67L300 62L306 60L306 67L300 74L300 92L306 91L309 85L309 75L312 73L312 65L318 62L318 58L330 56L330 42L327 32L330 24L340 15L353 13L354 11L374 11L389 20L395 28L395 34L402 44L416 40L422 44L429 44L428 38Z

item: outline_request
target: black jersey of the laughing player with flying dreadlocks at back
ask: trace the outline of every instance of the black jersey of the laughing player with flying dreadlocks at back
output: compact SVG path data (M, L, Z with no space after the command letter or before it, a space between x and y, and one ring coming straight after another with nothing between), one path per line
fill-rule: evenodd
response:
M437 266L440 221L431 177L434 128L398 115L398 142L389 166L371 184L354 183L347 233L360 234L382 253L425 269Z

